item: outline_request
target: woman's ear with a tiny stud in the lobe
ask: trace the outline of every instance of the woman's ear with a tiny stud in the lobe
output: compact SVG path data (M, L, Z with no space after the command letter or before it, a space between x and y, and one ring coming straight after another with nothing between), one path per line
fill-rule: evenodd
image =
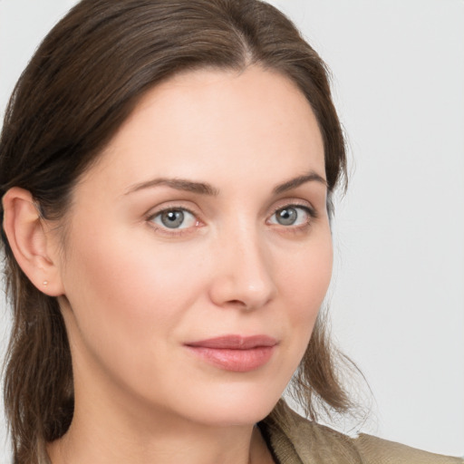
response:
M44 294L63 295L56 237L53 240L31 193L18 187L9 189L3 206L5 234L24 274Z

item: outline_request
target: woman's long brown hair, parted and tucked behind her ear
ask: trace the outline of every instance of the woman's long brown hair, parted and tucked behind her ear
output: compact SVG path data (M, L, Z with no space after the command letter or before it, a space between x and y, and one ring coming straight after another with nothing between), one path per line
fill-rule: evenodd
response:
M253 63L304 92L323 135L331 194L346 168L327 71L284 14L258 0L82 0L16 84L0 140L0 196L27 189L44 218L62 217L77 179L144 92L175 73ZM57 300L27 279L3 229L2 241L14 310L5 369L14 463L42 462L46 442L63 436L73 419L71 353ZM337 412L350 406L321 320L294 388L313 419L317 402Z

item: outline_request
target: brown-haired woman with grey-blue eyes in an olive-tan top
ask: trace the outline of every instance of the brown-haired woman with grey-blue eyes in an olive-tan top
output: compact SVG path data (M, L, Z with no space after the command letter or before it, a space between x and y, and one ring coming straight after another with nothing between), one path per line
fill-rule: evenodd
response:
M279 401L297 371L311 418L351 407L317 319L343 135L275 8L83 0L0 155L14 462L460 462Z

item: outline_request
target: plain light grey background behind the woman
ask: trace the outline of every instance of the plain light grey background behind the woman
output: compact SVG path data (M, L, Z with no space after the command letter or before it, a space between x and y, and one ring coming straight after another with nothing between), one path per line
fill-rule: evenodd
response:
M0 112L73 3L0 0ZM348 135L331 311L339 345L372 388L364 430L464 455L464 2L272 3L332 69ZM3 306L0 324L3 352ZM5 445L0 462L7 456Z

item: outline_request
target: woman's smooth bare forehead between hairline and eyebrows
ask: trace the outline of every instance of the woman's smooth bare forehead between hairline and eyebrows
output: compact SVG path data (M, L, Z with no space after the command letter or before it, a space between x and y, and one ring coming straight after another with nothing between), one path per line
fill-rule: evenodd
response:
M310 169L324 176L324 143L304 94L282 74L198 70L147 92L95 169L111 181L285 178Z

